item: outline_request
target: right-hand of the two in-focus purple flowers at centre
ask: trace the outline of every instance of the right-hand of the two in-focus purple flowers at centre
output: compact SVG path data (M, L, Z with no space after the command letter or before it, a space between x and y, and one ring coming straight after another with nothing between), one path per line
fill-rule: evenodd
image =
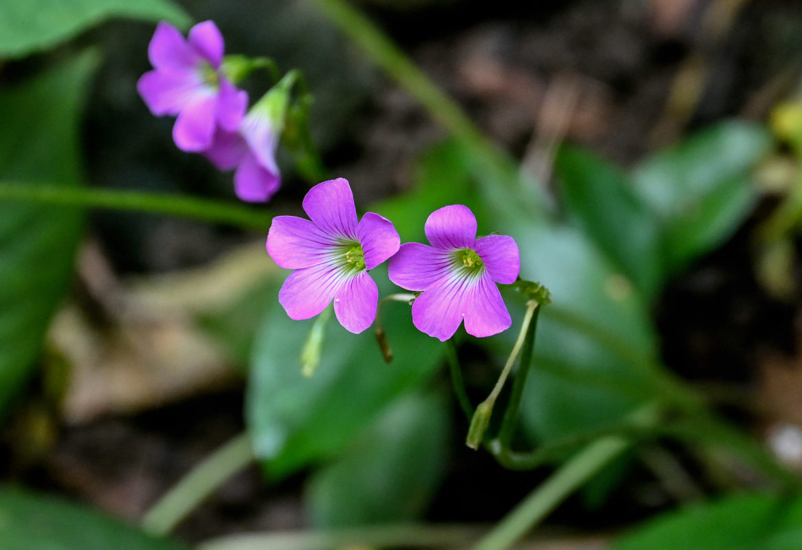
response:
M412 304L412 322L445 342L460 323L473 336L507 330L512 324L496 283L511 284L520 270L512 237L476 238L476 217L462 204L435 210L426 220L432 246L405 243L390 260L390 280L423 291Z

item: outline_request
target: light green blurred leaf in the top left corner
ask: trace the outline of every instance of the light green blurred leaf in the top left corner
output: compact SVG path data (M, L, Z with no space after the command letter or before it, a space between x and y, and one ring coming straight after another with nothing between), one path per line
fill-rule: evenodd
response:
M188 26L188 14L170 0L9 0L0 2L0 58L21 58L109 18L165 20Z

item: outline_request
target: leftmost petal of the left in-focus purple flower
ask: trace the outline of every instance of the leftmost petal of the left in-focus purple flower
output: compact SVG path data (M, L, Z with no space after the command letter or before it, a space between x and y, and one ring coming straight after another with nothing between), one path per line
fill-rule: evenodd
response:
M267 253L285 269L299 269L322 263L334 245L310 220L276 216L267 233Z

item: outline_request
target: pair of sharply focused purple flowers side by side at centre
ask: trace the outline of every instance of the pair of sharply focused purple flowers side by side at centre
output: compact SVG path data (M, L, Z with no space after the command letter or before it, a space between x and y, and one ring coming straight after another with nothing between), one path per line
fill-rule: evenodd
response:
M295 269L278 299L293 319L321 313L334 300L338 321L353 333L373 323L379 292L368 275L389 259L391 281L420 293L412 305L415 326L441 341L464 321L468 334L491 336L512 320L496 283L511 284L520 270L512 237L476 238L476 217L452 204L432 212L425 225L431 246L400 245L390 220L367 212L357 219L354 196L342 178L314 186L303 200L310 220L273 218L267 252Z

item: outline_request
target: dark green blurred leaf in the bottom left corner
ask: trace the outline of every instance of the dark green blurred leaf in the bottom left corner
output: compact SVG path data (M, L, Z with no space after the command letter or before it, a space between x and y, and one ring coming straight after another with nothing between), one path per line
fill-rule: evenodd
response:
M14 550L185 550L119 520L50 496L0 490L0 548Z

